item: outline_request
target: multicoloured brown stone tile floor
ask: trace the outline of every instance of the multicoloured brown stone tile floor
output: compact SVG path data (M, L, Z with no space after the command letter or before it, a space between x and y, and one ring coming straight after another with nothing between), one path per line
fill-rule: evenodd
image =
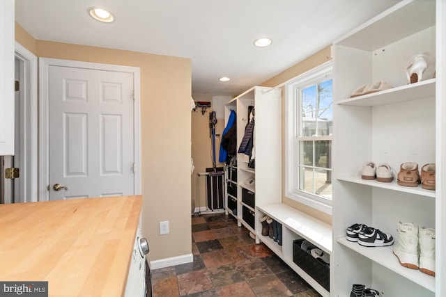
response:
M230 215L192 217L192 254L192 263L152 271L153 297L321 296Z

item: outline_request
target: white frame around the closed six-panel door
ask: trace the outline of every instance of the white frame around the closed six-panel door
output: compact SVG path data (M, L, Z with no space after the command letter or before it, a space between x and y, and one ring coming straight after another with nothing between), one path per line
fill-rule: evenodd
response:
M49 147L48 147L48 68L49 66L63 66L104 70L113 72L132 73L134 77L134 194L141 194L141 100L140 100L140 70L139 67L69 61L54 58L39 58L40 77L40 111L39 111L39 201L49 200Z

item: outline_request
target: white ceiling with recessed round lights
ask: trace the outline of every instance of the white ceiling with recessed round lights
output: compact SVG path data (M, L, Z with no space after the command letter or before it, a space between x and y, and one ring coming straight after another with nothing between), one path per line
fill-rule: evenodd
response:
M15 0L15 19L39 40L190 58L193 94L239 95L397 2ZM111 10L116 21L95 21L91 6ZM259 37L272 45L254 47Z

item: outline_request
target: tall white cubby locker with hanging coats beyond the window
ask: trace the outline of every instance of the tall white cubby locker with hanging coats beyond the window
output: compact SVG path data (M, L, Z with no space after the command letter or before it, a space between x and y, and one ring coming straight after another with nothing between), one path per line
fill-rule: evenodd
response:
M226 191L226 211L256 234L256 205L282 201L282 91L255 86L226 105L226 113L231 109L237 113L237 150L249 121L249 106L254 107L255 115L255 165L250 168L249 157L237 154L236 181L226 182L226 189L233 187ZM252 177L255 182L249 182Z

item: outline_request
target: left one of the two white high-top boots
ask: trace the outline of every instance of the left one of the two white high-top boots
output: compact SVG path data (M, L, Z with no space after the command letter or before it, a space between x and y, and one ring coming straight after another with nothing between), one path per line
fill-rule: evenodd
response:
M418 269L418 226L399 222L397 239L393 253L398 257L399 263L404 267Z

